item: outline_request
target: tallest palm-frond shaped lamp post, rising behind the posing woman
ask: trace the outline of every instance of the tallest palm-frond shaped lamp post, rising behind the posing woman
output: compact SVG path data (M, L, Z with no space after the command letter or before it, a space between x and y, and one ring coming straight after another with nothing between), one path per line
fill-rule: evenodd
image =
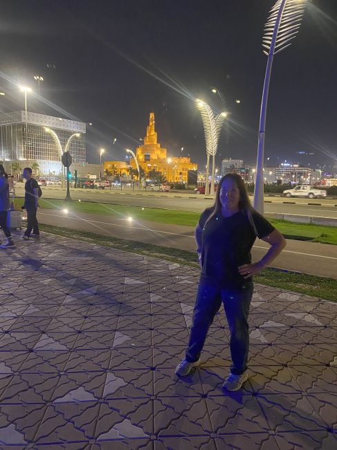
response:
M268 21L264 27L262 46L268 56L264 87L262 92L261 111L259 115L259 136L257 145L256 178L254 190L254 208L261 214L264 212L264 135L266 129L266 109L271 66L276 53L291 45L298 33L307 0L277 0L271 8Z

